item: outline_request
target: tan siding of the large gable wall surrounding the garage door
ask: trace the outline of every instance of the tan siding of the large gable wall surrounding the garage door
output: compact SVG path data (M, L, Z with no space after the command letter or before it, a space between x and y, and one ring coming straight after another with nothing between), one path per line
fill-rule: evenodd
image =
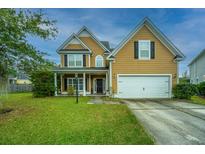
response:
M134 41L151 40L155 42L155 59L134 59ZM117 92L117 74L172 74L173 86L177 82L177 64L174 55L151 33L143 27L117 53L112 64L112 88Z

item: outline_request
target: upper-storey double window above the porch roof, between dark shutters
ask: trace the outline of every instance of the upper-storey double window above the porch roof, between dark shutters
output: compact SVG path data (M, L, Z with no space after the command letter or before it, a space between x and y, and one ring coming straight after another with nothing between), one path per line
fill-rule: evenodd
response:
M70 66L70 67L82 67L83 66L83 55L81 55L81 54L69 54L68 55L68 66Z

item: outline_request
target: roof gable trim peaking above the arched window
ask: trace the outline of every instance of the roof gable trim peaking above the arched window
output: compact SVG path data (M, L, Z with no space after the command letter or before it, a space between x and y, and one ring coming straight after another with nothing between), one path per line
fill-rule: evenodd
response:
M83 37L83 36L90 36L92 39L96 41L96 43L103 48L106 52L110 52L110 50L101 42L98 40L98 38L86 27L83 26L79 32L77 33L78 37Z

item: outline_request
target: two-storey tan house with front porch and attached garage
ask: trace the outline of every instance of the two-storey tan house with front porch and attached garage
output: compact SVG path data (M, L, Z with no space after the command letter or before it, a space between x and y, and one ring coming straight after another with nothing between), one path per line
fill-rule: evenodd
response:
M113 50L113 49L112 49ZM119 98L170 98L178 81L178 63L184 55L150 21L143 19L111 51L87 28L72 34L58 49L61 94L75 86L80 94ZM57 94L57 91L55 92Z

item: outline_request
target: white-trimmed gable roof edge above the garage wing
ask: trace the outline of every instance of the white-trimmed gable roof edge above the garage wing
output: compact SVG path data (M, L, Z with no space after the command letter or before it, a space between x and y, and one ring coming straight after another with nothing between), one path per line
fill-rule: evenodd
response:
M185 58L184 54L174 46L174 44L151 22L150 19L144 18L115 48L115 50L108 56L115 56L120 49L143 27L146 26L179 60Z

